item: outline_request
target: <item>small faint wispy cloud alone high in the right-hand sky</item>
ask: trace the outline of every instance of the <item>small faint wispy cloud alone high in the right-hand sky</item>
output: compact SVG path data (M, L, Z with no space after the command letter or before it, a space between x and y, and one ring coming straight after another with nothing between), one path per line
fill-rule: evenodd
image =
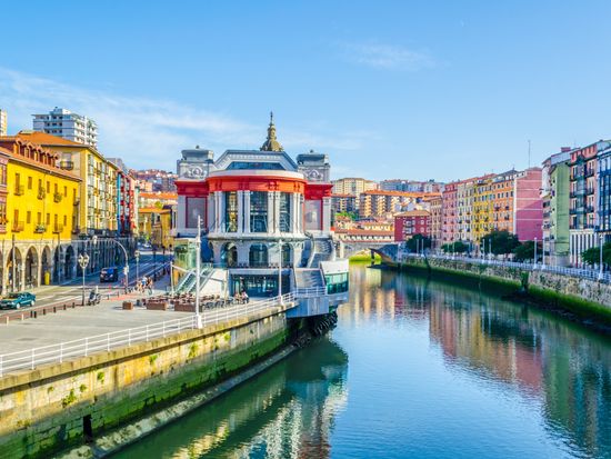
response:
M437 66L435 60L425 51L391 44L352 43L344 46L344 51L350 62L378 69L417 71Z

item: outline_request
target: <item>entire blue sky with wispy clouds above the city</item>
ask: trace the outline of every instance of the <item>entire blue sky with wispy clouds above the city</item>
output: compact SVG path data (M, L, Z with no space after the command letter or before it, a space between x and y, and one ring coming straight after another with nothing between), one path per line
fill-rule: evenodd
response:
M194 144L333 176L452 180L611 137L611 2L3 2L9 132L56 106L100 150L174 169Z

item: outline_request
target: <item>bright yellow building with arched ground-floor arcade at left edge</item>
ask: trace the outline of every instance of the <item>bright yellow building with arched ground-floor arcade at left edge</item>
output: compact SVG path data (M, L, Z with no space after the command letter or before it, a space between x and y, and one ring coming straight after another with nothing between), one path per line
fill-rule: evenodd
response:
M72 236L81 180L58 168L57 160L49 149L19 137L0 137L2 295L74 273Z

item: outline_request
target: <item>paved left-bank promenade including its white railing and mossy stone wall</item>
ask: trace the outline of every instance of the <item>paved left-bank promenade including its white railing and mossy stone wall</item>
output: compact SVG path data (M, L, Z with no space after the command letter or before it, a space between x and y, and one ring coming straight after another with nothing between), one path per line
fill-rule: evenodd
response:
M253 368L301 327L288 323L292 292L204 309L201 328L193 312L123 310L123 300L0 326L2 453L48 457L88 441Z

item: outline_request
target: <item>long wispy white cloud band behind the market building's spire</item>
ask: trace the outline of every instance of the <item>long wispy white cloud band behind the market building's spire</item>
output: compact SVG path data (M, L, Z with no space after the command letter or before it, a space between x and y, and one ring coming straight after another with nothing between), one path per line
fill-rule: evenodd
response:
M267 128L171 100L129 98L0 68L0 108L9 112L10 132L31 129L31 114L53 107L94 119L100 151L121 157L134 168L174 169L180 150L196 144L217 152L258 148ZM321 133L287 128L279 131L279 138L291 152L311 148L353 150L365 144L362 132Z

